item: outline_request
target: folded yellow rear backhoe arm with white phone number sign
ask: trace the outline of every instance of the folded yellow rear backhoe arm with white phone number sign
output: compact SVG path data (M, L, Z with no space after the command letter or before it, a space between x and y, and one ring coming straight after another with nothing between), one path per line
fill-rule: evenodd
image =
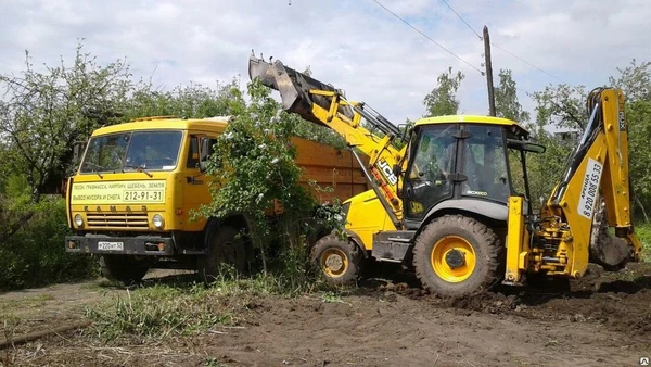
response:
M573 277L584 274L589 260L592 219L602 195L609 226L626 241L622 260L639 260L641 243L630 218L628 180L628 135L624 116L624 93L598 88L588 96L590 119L579 144L558 185L541 210L539 237L548 243L560 240L556 255L544 266L550 273ZM612 251L616 244L602 244ZM611 249L608 249L608 248Z

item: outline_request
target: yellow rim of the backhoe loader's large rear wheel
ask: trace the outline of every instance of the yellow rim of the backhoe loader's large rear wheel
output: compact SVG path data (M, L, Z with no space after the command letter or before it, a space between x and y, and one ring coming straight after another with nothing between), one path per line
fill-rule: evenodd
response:
M451 283L461 282L475 269L474 248L460 236L446 236L432 248L431 263L441 279Z

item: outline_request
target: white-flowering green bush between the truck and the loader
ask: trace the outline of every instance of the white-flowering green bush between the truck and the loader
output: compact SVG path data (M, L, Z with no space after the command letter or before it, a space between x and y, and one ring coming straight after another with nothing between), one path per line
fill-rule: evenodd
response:
M324 208L298 184L303 170L295 163L296 150L290 139L304 122L282 111L259 81L250 83L247 89L250 104L231 119L214 147L207 165L213 201L201 214L247 215L253 220L250 238L254 248L261 254L276 254L277 269L290 275L289 286L295 287L296 281L309 278L306 230L318 225L341 227L332 219L339 205ZM282 215L270 217L275 204L282 207ZM269 243L276 246L268 248Z

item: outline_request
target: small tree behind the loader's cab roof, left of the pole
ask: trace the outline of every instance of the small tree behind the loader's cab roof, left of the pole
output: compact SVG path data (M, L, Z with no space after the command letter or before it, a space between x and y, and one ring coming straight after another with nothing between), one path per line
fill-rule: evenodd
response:
M423 104L425 105L425 116L455 115L459 110L459 100L457 100L457 90L465 76L461 72L452 73L448 68L447 73L438 76L438 86L425 96Z

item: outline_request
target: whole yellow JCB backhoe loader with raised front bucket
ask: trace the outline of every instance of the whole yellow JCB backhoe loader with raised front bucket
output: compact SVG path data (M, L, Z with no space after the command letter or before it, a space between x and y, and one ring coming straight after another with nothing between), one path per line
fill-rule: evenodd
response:
M361 165L372 190L344 203L348 239L328 235L312 248L332 282L355 280L363 260L374 258L413 266L423 287L458 296L527 278L578 278L590 260L618 266L640 258L621 90L590 92L583 138L534 213L526 156L545 147L515 122L456 115L399 128L281 61L252 56L248 73L280 91L285 111L344 137L360 164L358 152L370 157ZM590 250L602 202L618 239Z

